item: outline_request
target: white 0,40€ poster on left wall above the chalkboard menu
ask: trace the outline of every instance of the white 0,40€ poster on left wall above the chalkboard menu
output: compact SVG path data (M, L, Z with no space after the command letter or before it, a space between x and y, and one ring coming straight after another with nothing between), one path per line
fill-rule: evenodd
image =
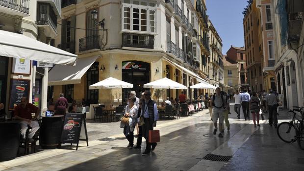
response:
M30 60L22 58L13 58L12 73L30 74Z

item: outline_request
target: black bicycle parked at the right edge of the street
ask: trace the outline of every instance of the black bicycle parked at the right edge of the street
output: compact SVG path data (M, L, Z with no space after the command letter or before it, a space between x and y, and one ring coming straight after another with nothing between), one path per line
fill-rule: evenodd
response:
M298 141L299 147L304 150L304 107L293 106L293 108L297 109L288 111L294 114L292 120L289 122L281 122L277 127L277 133L283 142L291 144ZM302 118L297 119L297 122L296 112L302 115Z

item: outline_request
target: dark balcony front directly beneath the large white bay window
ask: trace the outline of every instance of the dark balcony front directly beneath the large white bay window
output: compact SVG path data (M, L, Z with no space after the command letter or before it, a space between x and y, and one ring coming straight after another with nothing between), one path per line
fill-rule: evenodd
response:
M153 35L123 33L122 38L122 47L154 49Z

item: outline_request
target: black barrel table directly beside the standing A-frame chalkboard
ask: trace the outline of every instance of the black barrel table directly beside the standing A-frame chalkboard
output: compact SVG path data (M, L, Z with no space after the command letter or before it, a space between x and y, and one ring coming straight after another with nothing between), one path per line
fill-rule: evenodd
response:
M42 117L39 132L42 149L54 149L61 144L63 117L63 115Z

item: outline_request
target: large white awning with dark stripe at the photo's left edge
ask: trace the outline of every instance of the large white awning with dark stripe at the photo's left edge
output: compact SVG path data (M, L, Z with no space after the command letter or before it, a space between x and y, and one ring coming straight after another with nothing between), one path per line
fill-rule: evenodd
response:
M9 31L0 30L0 56L24 58L61 65L75 65L77 55L43 42Z

